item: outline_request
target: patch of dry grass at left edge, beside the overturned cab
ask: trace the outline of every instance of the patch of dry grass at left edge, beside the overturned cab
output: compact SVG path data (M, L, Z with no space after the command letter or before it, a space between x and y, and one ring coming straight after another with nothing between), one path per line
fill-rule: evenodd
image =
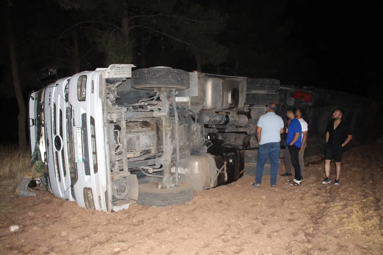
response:
M0 146L0 180L19 181L31 170L29 150L21 150L16 145Z

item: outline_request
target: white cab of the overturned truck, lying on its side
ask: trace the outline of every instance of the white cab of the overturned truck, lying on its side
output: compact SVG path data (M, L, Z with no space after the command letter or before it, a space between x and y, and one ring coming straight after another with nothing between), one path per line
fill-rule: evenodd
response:
M124 69L122 76L130 78L133 66L111 65L81 72L29 96L31 150L38 150L54 196L100 211L118 211L132 203L127 200L126 204L119 201L115 207L111 205L102 96L106 77L121 78L118 72Z

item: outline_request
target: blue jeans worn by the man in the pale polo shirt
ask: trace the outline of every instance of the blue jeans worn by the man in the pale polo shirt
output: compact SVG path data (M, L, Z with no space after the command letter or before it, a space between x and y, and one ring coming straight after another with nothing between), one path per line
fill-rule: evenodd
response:
M269 142L267 144L259 145L258 148L258 157L257 157L257 167L255 173L255 183L262 183L263 169L267 160L267 157L270 156L270 184L277 184L277 174L278 174L278 157L281 150L280 142Z

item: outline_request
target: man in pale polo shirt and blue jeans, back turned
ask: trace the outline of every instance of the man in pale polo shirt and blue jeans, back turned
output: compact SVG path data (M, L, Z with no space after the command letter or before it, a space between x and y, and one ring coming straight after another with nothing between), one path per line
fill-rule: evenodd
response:
M260 116L257 123L258 156L255 173L255 183L252 185L260 188L267 157L270 156L270 185L277 186L278 157L280 152L281 134L284 133L283 119L275 114L277 106L269 103L266 114Z

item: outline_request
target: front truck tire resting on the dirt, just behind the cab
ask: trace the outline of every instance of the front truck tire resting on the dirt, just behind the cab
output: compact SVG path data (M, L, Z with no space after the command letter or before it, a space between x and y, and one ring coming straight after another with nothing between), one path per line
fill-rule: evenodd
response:
M193 199L193 186L182 183L170 189L158 189L158 182L139 185L137 204L164 207L172 204L185 204Z

